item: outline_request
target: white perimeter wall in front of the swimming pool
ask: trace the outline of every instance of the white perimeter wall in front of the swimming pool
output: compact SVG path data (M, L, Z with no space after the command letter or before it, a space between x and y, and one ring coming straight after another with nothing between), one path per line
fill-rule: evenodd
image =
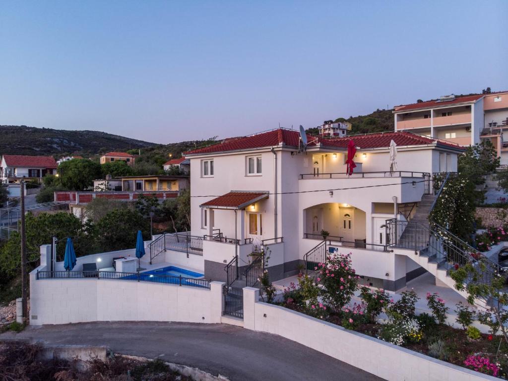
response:
M86 321L220 323L221 282L211 289L134 280L36 279L30 273L30 325Z

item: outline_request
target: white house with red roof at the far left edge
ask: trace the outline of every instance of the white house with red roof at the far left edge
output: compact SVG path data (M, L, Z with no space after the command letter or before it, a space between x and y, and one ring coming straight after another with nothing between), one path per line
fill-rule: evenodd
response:
M56 174L56 161L51 156L4 155L0 161L0 180L17 183L23 178L42 179Z

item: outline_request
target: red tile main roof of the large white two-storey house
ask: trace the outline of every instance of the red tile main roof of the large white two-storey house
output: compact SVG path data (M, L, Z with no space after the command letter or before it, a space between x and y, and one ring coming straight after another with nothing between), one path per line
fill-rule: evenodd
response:
M294 146L295 148L297 148L299 136L300 133L297 131L279 129L264 132L257 135L239 137L233 140L226 139L220 143L190 151L187 153L187 155L227 152L236 150L249 150L255 148L275 146L280 143L286 146ZM383 147L388 148L390 146L390 141L392 139L398 146L425 145L435 143L437 145L444 145L461 149L457 144L427 138L407 131L380 132L375 134L332 137L326 139L307 134L307 141L309 142L307 146L315 146L316 144L321 143L321 145L324 147L346 149L347 142L353 140L355 144L361 149L383 148Z

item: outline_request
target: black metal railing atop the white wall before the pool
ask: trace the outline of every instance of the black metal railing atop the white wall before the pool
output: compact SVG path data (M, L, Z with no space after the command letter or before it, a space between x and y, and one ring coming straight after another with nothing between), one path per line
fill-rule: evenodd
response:
M175 284L179 286L195 286L210 288L210 281L207 279L187 278L172 275L157 275L148 273L121 273L113 271L38 271L37 279L113 279L113 280L135 280L138 282L155 282Z

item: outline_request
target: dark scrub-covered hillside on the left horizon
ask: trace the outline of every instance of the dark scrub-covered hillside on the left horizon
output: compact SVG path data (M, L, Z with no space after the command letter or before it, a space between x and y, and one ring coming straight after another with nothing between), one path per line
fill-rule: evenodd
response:
M100 131L0 126L0 155L93 155L154 145L156 144Z

